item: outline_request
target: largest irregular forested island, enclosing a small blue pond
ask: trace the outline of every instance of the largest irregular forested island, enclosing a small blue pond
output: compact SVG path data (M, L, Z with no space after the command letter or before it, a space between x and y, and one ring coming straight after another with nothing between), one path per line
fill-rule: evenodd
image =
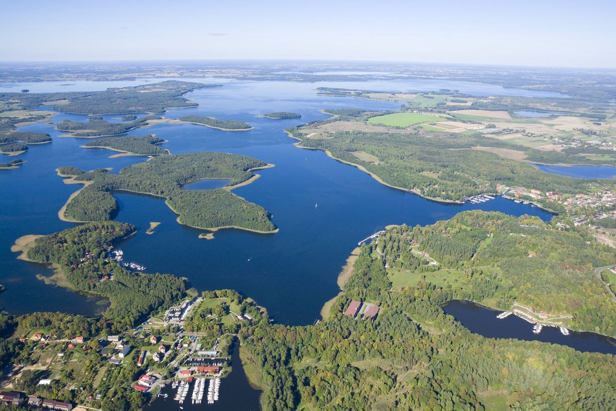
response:
M214 228L236 226L244 229L272 231L274 224L261 206L249 203L225 189L185 190L184 184L200 179L230 179L229 185L245 182L264 167L256 158L227 153L188 153L164 155L129 166L120 174L105 170L79 173L75 168L60 168L63 175L76 175L75 181L91 181L67 205L66 215L77 221L104 221L115 216L117 202L113 193L127 190L166 198L187 226ZM76 173L76 174L73 174Z

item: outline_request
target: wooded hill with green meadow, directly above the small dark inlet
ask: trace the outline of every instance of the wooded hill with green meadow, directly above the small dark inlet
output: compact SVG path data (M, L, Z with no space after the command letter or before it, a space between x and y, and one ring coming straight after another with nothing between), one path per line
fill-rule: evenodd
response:
M395 227L376 247L410 282L417 276L407 271L418 269L411 245L440 263L419 271L437 271L455 298L501 309L517 301L536 312L572 315L570 325L577 329L616 336L616 304L594 275L594 269L614 264L616 252L590 233L482 211L433 226Z

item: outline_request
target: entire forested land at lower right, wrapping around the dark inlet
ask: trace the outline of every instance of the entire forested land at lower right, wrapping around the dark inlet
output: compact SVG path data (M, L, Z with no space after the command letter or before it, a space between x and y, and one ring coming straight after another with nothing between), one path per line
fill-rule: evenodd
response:
M492 299L505 306L519 296L546 309L572 309L583 328L607 320L602 330L613 334L614 322L607 317L613 318L614 308L592 278L592 265L583 261L613 261L614 251L594 240L586 245L583 234L555 232L535 220L473 211L436 226L394 228L361 248L352 276L322 322L240 330L245 368L251 381L264 389L262 408L616 407L615 356L538 341L484 338L444 315L440 307L461 297ZM529 223L539 228L529 228ZM411 252L409 246L415 243L441 260L438 272L447 282L431 276L437 271L428 260ZM529 246L537 258L529 258ZM552 261L546 259L543 254L553 250L562 252ZM387 269L389 264L405 267L403 275L412 280L392 288L394 269ZM528 280L538 286L520 287ZM575 303L565 302L561 287ZM379 306L376 319L344 315L351 300Z

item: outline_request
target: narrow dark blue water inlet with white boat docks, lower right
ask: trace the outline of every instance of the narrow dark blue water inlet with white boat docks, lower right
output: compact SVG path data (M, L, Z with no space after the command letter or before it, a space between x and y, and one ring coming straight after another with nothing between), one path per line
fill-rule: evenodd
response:
M472 333L487 338L516 338L525 341L543 341L544 343L561 344L582 352L602 352L616 355L616 339L596 333L571 331L562 335L556 327L543 327L541 333L532 332L533 325L516 315L505 319L497 319L502 311L495 311L480 306L471 301L454 299L443 306L446 314L452 315L460 324Z

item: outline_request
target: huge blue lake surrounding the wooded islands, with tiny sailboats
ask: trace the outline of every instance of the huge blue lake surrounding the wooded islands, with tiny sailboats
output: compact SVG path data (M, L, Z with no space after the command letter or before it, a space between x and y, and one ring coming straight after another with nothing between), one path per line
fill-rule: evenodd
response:
M206 82L200 79L199 81ZM452 205L425 200L417 195L379 184L357 168L328 158L318 150L294 147L295 140L283 130L307 121L327 118L322 108L391 110L399 105L350 97L318 96L315 88L358 87L358 83L258 82L212 79L222 87L201 89L187 95L198 108L169 110L168 118L208 115L248 121L250 131L225 132L193 124L158 124L137 129L132 135L156 134L168 140L171 153L202 150L240 153L275 165L258 171L253 184L234 193L264 206L280 228L277 234L221 230L213 240L198 238L202 231L180 226L160 198L116 195L121 206L118 221L135 224L139 232L121 244L124 258L147 266L147 272L169 272L187 277L198 290L234 288L267 307L283 324L312 324L328 299L338 293L336 277L347 256L362 238L387 224L432 224L464 210L497 210L508 214L551 215L540 208L496 198L480 205ZM2 84L4 90L28 88L32 92L105 89L137 85L144 81ZM447 81L362 82L368 89L459 89L469 94L504 94L500 86ZM508 90L508 92L524 92ZM543 94L541 94L543 95ZM273 111L301 113L299 120L270 120L256 115ZM105 116L118 120L118 115ZM63 114L52 121L86 121L86 116ZM83 169L112 167L113 172L144 161L143 157L108 158L114 152L81 149L86 140L58 137L47 123L31 124L23 131L48 132L51 144L32 145L20 156L21 168L0 172L0 283L7 289L0 304L12 313L65 311L96 314L101 301L46 285L35 274L51 275L41 264L17 260L10 251L15 239L25 234L51 234L75 226L58 219L58 210L78 185L63 184L54 169L71 165ZM201 184L201 185L200 185ZM193 189L211 187L201 182ZM318 203L318 208L314 204ZM146 235L150 221L162 224Z

